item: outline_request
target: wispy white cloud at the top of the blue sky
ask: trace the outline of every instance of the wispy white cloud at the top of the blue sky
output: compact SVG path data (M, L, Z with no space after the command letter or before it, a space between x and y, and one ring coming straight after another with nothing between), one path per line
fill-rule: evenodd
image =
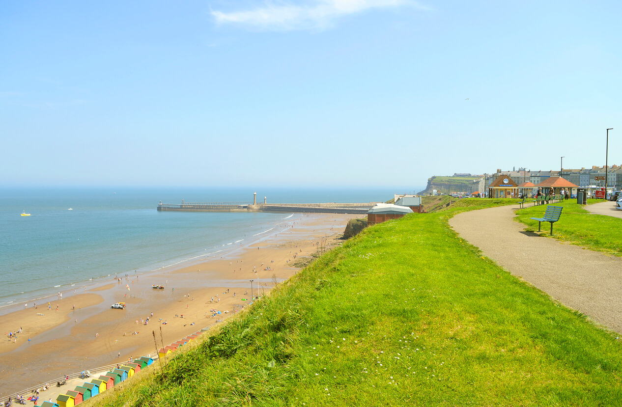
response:
M243 11L212 11L217 24L238 24L265 30L324 29L335 19L370 9L410 6L426 9L413 0L307 0L266 1L262 6Z

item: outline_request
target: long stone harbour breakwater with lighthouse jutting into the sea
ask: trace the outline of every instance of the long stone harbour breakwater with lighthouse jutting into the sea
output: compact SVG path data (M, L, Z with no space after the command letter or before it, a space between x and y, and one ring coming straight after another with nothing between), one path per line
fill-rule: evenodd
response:
M158 211L181 212L273 212L366 214L375 203L247 204L247 203L159 203Z

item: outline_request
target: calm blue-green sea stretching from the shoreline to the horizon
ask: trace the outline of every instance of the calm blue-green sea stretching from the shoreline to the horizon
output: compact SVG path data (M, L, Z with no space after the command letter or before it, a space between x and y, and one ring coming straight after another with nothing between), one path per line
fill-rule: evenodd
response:
M271 189L258 191L258 202L264 196L269 203L386 201L393 192ZM92 285L91 279L148 272L251 244L293 219L290 214L156 211L160 200L182 199L251 203L253 191L0 189L0 308ZM31 216L20 216L22 211Z

